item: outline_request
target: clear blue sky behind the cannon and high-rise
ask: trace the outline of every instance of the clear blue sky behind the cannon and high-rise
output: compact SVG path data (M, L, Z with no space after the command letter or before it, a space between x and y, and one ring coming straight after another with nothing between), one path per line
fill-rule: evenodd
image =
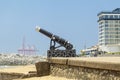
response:
M66 40L77 50L98 43L101 11L120 8L120 0L0 0L0 52L17 52L25 36L42 55L50 39L35 31L39 25Z

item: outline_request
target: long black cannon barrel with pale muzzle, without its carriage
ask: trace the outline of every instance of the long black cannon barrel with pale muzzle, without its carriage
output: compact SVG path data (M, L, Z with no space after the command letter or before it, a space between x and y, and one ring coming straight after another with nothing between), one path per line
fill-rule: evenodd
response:
M71 50L73 48L73 45L69 43L68 41L66 41L65 39L60 38L59 36L54 35L40 27L36 27L36 31L44 34L45 36L49 37L51 40L57 42L58 44L60 44L61 46L65 47L68 50Z

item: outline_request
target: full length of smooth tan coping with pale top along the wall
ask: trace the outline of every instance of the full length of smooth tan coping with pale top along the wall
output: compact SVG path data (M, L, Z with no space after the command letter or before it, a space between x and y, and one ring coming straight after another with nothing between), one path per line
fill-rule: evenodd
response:
M106 60L105 60L106 59ZM51 64L64 64L70 66L81 66L89 68L107 69L120 71L120 59L112 58L49 58Z

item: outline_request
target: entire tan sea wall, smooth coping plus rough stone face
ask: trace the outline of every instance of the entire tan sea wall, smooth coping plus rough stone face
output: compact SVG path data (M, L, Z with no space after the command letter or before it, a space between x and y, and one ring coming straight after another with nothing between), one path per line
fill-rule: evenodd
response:
M120 80L120 63L73 58L50 58L50 75L73 80Z

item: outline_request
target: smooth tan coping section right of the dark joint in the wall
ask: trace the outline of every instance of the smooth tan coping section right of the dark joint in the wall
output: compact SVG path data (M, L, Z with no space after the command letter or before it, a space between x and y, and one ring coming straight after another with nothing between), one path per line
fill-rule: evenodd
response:
M120 64L68 59L68 65L120 71Z

